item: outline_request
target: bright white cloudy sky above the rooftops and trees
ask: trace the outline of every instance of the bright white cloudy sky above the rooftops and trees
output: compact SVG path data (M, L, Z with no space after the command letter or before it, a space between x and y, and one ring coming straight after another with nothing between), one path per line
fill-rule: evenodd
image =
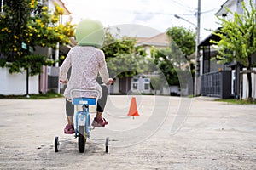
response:
M103 26L124 28L123 34L150 37L172 26L195 31L197 0L62 0L72 13L73 24L90 18ZM215 14L226 0L201 0L201 40L218 28ZM177 19L174 14L183 19ZM186 20L189 20L186 21ZM129 31L127 33L127 31ZM129 35L131 36L131 35Z

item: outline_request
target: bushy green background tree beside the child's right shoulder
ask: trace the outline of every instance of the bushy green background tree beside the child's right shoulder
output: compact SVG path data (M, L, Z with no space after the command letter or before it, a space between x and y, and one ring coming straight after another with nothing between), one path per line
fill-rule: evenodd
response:
M115 38L106 31L104 51L111 77L133 77L143 72L146 52L135 47L136 39L131 37Z

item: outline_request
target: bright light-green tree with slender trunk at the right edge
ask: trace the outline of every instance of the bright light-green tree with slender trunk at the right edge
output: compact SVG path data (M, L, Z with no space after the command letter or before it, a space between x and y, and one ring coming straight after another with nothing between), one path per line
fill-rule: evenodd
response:
M244 65L248 71L252 70L252 55L256 52L256 9L253 7L252 0L249 2L250 9L246 8L242 2L243 14L232 13L228 8L228 13L234 16L234 19L221 21L222 28L213 34L220 37L220 41L212 41L218 45L219 62L229 63L238 62ZM247 73L248 80L248 98L252 99L252 76Z

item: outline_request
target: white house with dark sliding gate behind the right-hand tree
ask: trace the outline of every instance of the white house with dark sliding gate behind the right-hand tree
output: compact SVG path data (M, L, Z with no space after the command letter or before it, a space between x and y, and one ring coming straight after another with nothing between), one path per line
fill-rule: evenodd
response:
M233 15L228 13L226 8L229 8L229 10L233 13L237 12L238 14L242 14L242 2L244 2L246 7L250 9L250 0L227 0L223 5L221 5L221 8L218 10L216 15L218 17L223 17L225 20L232 20ZM256 8L256 0L252 0L252 3ZM247 98L247 76L246 74L243 74L241 76L242 66L237 62L233 62L231 64L218 65L215 59L217 53L216 51L212 50L212 43L210 42L211 39L215 41L220 40L219 37L211 34L209 35L209 37L207 37L200 43L200 46L203 47L203 55L201 58L201 94L210 96L215 95L218 97L225 96L224 98ZM252 62L256 62L256 54L253 56ZM255 70L255 68L253 70ZM216 78L220 74L222 74L222 76ZM211 80L211 82L207 82L207 80ZM215 83L215 85L213 82ZM252 82L253 98L256 98L255 73L252 74ZM218 86L216 86L216 84L218 84ZM221 94L220 91L223 94Z

